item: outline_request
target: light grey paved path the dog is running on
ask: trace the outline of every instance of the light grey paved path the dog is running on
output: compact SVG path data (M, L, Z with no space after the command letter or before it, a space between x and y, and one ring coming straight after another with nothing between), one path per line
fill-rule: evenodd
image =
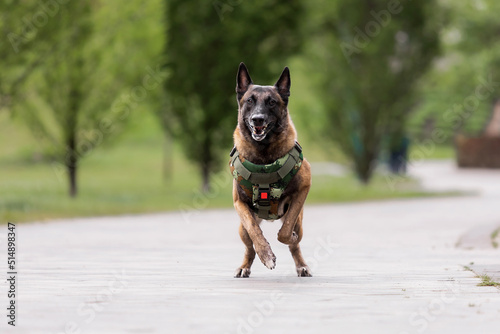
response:
M498 264L499 250L455 247L500 222L499 194L307 206L312 278L295 277L274 222L276 269L256 260L234 279L234 210L18 225L18 325L2 281L0 333L499 333L500 290L464 270Z

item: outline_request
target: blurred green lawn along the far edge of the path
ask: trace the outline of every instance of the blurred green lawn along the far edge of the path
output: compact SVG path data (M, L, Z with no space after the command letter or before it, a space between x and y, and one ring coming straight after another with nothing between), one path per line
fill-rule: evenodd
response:
M175 144L165 175L164 141L155 119L145 116L136 123L112 145L98 147L81 161L79 195L71 199L64 170L34 158L42 148L21 124L0 113L0 222L232 206L232 179L226 169L214 176L213 190L202 194L198 170ZM304 149L307 156L307 144ZM307 203L430 195L408 179L393 188L382 176L368 186L350 175L314 176Z

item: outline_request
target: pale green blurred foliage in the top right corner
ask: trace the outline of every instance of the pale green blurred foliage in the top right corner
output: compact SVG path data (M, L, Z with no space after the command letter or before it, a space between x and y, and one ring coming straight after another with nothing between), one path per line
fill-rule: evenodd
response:
M500 93L500 3L444 2L449 25L440 31L443 55L422 81L421 103L410 118L418 139L451 143L457 132L479 135ZM442 138L433 135L441 132Z

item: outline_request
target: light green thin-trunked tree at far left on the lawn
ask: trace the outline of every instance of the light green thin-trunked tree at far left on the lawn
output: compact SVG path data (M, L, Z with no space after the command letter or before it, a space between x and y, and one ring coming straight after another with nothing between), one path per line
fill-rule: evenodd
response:
M24 102L13 108L49 143L54 168L67 173L71 197L78 192L80 160L120 132L159 80L150 62L155 47L143 31L149 31L149 14L158 5L134 1L117 11L97 1L61 4L26 51L29 57L50 45L43 64L23 84Z

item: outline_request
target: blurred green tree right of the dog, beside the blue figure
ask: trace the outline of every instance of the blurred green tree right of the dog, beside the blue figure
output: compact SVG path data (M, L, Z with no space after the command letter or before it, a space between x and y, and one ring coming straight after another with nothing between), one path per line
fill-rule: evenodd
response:
M311 2L307 47L324 74L318 90L328 135L367 183L384 135L403 136L416 83L439 51L438 7L435 1L328 4Z

